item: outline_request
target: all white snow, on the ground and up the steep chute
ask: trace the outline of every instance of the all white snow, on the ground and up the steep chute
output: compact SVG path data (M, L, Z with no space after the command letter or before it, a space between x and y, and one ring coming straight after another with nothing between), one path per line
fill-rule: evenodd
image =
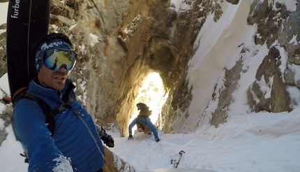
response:
M276 0L275 0L276 1ZM278 2L284 2L278 0ZM175 10L182 11L188 6L179 0L172 0ZM171 160L179 160L179 152L183 150L180 164L177 169L207 169L218 172L233 171L300 171L300 107L294 105L294 110L287 113L252 113L249 110L246 90L255 78L255 72L268 53L266 45L254 45L256 25L248 26L246 17L249 13L251 0L242 0L238 5L223 1L223 15L218 22L213 22L213 15L207 17L200 34L195 41L194 57L189 62L188 80L193 85L193 101L190 104L190 117L186 126L195 126L199 114L203 114L202 122L195 131L184 130L182 134L164 134L158 130L160 142L156 143L152 135L145 135L135 131L134 139L120 138L119 133L109 132L115 141L114 148L109 148L114 154L128 162L136 171L151 169L173 169ZM285 1L287 8L295 10L296 1ZM0 3L0 16L6 3ZM0 17L1 22L6 22ZM291 41L291 43L295 43ZM297 42L296 42L297 43ZM218 128L209 125L211 113L218 104L209 100L213 86L222 85L224 68L231 69L239 59L240 47L243 44L249 52L244 55L244 66L248 71L241 73L239 87L233 92L234 101L229 107L227 122ZM280 55L284 68L287 52L280 48ZM253 56L253 52L257 52ZM222 57L222 58L218 58ZM209 75L197 73L207 72ZM253 79L251 79L253 78ZM0 87L9 92L6 82L7 76L0 80ZM201 82L200 82L201 80ZM260 83L267 85L266 83ZM159 86L156 86L159 87ZM265 87L264 92L270 89ZM299 91L289 89L299 101ZM267 94L268 95L268 94ZM0 97L3 94L0 92ZM202 101L209 102L204 111ZM0 103L0 112L5 106ZM150 107L151 108L151 107ZM0 119L0 129L3 129L3 120ZM27 164L19 154L22 146L15 141L13 129L6 127L8 136L0 147L0 167L4 172L27 171ZM142 156L141 156L142 155ZM182 170L186 171L186 170Z

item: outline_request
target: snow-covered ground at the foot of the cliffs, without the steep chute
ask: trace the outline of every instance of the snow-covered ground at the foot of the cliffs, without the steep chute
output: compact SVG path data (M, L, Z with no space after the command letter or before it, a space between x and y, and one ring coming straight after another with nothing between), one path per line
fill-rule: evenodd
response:
M230 117L226 124L204 126L190 134L163 134L156 143L153 135L137 134L133 141L112 134L112 152L137 171L178 168L213 171L299 171L300 108L292 113L251 113ZM11 126L8 139L0 147L1 171L27 170L20 143L15 141Z

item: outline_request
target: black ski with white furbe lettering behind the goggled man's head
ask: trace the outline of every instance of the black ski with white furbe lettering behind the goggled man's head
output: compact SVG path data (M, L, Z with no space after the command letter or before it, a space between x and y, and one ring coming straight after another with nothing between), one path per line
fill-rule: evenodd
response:
M6 27L6 57L10 96L28 87L36 76L33 45L49 29L50 0L10 0Z

